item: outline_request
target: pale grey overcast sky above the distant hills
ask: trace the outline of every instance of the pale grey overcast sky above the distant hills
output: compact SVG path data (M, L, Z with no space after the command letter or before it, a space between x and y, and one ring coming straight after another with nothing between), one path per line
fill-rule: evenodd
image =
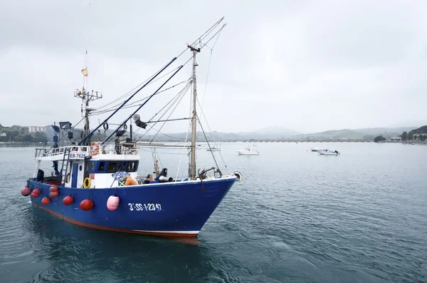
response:
M206 93L211 51L198 55L199 101L205 94L211 130L418 126L427 121L426 11L426 1L416 0L1 1L0 123L75 124L80 101L73 92L82 87L87 46L89 88L104 96L92 103L97 108L144 81L225 16ZM186 51L178 63L190 57ZM189 76L190 64L169 86ZM142 120L178 91L153 98L139 111ZM190 96L184 99L171 118L189 115ZM130 115L120 113L111 123ZM98 118L106 115L93 117L92 125ZM186 128L186 122L173 122L163 131Z

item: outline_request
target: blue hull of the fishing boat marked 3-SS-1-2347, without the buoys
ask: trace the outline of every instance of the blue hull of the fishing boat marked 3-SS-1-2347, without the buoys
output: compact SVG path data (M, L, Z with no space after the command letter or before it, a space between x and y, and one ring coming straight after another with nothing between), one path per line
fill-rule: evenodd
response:
M48 205L41 200L49 195L52 185L28 180L31 190L38 187L41 194L31 197L33 205L52 212L69 222L85 227L117 232L196 237L201 227L220 204L235 177L201 182L167 182L107 189L59 187L58 197L51 197ZM107 199L120 197L117 210L107 209ZM74 202L63 205L63 198L71 195ZM80 202L93 201L89 211L80 209Z

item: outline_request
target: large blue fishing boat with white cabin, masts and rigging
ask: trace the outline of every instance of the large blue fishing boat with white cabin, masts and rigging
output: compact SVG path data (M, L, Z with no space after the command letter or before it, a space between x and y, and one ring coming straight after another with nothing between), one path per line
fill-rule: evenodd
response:
M159 74L183 52L154 73L93 130L90 130L89 120L96 109L89 108L89 102L102 98L102 93L87 91L84 87L75 91L75 97L81 98L83 102L81 112L85 125L80 141L74 138L71 123L60 122L59 127L54 123L54 145L51 148L36 148L36 168L21 194L30 196L34 206L76 225L144 235L196 237L233 184L243 178L238 171L222 173L218 165L206 170L199 169L196 173L196 124L199 122L196 113L196 54L212 38L218 36L225 26L219 26L222 20L223 18L211 26L194 43L186 44L186 50L192 53L193 63L191 78L187 83L187 89L192 86L193 109L191 117L186 118L191 120L191 142L169 146L187 150L190 156L188 177L174 180L168 175L167 168L162 168L159 172L157 160L153 174L139 175L138 171L152 173L152 170L139 168L138 149L167 145L153 141L139 142L132 131L132 123L135 123L137 130L147 130L148 125L159 123L159 120L152 119L143 122L137 111L160 93L185 64L169 72L172 75L157 91L145 98L135 111L117 124L115 130L107 132L108 120L118 110L125 109L125 105L145 86L156 78L162 78ZM211 39L203 43L209 36ZM82 73L84 78L87 77L88 68L83 68ZM129 138L125 138L127 123L130 124ZM100 127L108 133L107 137L95 140L94 134L99 133ZM62 144L59 145L59 142ZM68 145L64 145L65 142ZM54 172L51 175L45 175L41 170L41 163L46 162L53 163Z

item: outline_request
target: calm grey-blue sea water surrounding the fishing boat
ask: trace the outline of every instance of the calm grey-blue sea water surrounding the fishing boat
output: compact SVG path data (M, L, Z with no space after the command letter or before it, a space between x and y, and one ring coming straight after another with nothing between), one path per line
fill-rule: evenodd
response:
M258 143L259 156L239 156L243 147L221 145L227 168L215 153L244 179L191 242L79 227L32 207L20 190L33 148L0 148L0 282L427 282L427 146ZM174 176L180 150L158 151ZM140 154L139 172L152 172L151 153ZM210 160L199 150L198 165Z

